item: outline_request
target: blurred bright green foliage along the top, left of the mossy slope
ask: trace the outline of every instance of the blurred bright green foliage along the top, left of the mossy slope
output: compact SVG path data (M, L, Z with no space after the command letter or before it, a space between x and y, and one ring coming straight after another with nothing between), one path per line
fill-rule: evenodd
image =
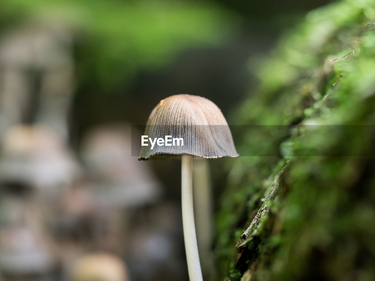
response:
M218 45L235 26L217 5L183 1L3 0L0 18L3 30L49 21L72 28L78 82L101 90L168 64L183 48Z

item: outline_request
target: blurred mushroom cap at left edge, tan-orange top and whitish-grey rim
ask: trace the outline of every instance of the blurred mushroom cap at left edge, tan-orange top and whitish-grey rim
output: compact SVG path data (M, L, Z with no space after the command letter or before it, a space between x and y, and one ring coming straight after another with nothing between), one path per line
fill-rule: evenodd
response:
M56 197L81 176L74 155L54 131L19 125L7 130L1 146L0 182L23 184Z

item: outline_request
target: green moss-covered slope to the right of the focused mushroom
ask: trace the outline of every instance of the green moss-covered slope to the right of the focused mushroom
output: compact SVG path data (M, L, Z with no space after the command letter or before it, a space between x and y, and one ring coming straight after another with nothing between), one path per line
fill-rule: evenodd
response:
M243 151L275 157L240 157L231 167L216 220L218 278L237 259L236 230L249 226L288 163L263 231L240 253L250 262L237 260L242 280L375 280L374 21L369 0L313 10L254 70L260 85L233 120L289 130L242 135Z

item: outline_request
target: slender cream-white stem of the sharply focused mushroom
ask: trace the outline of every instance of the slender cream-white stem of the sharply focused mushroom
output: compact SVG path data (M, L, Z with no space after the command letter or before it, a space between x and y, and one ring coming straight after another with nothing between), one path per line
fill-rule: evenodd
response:
M181 157L182 225L189 279L203 281L194 224L192 159L193 157L190 155Z

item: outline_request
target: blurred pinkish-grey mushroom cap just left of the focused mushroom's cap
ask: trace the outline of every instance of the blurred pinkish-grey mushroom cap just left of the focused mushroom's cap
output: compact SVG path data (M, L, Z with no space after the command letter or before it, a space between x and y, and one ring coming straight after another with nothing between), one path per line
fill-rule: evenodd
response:
M102 126L83 140L81 151L92 188L105 205L133 208L160 198L160 183L151 167L131 156L131 130L129 124Z

